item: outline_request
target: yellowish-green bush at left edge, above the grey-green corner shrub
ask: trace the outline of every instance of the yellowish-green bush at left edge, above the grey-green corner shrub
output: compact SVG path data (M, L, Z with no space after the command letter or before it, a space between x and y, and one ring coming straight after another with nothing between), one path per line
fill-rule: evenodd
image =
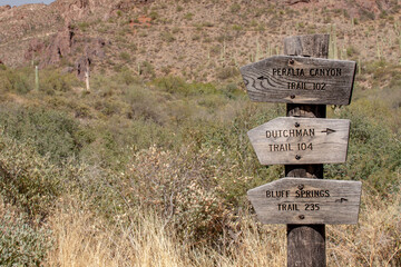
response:
M2 132L0 138L0 188L4 200L30 217L42 219L60 194L61 172L29 144ZM62 184L61 184L62 185Z

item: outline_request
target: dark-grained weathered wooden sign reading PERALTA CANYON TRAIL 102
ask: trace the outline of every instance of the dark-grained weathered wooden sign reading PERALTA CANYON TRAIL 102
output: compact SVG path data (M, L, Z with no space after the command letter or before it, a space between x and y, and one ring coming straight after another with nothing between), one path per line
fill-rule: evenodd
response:
M252 101L349 105L356 63L275 56L241 68Z

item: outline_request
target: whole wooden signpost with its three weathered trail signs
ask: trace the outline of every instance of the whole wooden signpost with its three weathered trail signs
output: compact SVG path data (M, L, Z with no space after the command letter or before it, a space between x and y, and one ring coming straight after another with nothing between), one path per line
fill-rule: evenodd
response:
M350 103L356 63L322 59L329 34L285 38L284 52L241 68L251 100L287 103L287 118L248 131L261 164L285 164L286 178L248 198L262 222L287 225L288 267L323 267L325 224L358 221L361 182L322 180L323 164L345 162L350 129L324 119L325 105Z

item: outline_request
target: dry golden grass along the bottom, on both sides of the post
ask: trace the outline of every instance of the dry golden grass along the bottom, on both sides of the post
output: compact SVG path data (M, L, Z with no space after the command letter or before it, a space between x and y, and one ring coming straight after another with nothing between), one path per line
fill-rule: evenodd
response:
M358 226L327 227L329 266L397 266L400 261L400 197L363 197ZM285 266L285 227L261 226L242 215L224 248L190 248L153 212L138 211L129 224L107 226L82 209L52 217L56 246L48 266ZM398 261L397 261L398 258Z

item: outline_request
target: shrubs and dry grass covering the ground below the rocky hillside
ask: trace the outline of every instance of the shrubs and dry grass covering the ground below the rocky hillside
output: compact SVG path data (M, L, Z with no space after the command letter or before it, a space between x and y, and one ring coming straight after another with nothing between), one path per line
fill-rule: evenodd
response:
M359 225L327 229L331 266L401 260L400 67L365 66L352 105L327 108L352 128L348 162L325 177L363 181ZM126 70L92 77L90 92L57 69L36 91L32 73L0 71L2 265L285 263L285 227L262 226L245 197L283 176L246 137L283 105L252 103L237 72L205 83Z

